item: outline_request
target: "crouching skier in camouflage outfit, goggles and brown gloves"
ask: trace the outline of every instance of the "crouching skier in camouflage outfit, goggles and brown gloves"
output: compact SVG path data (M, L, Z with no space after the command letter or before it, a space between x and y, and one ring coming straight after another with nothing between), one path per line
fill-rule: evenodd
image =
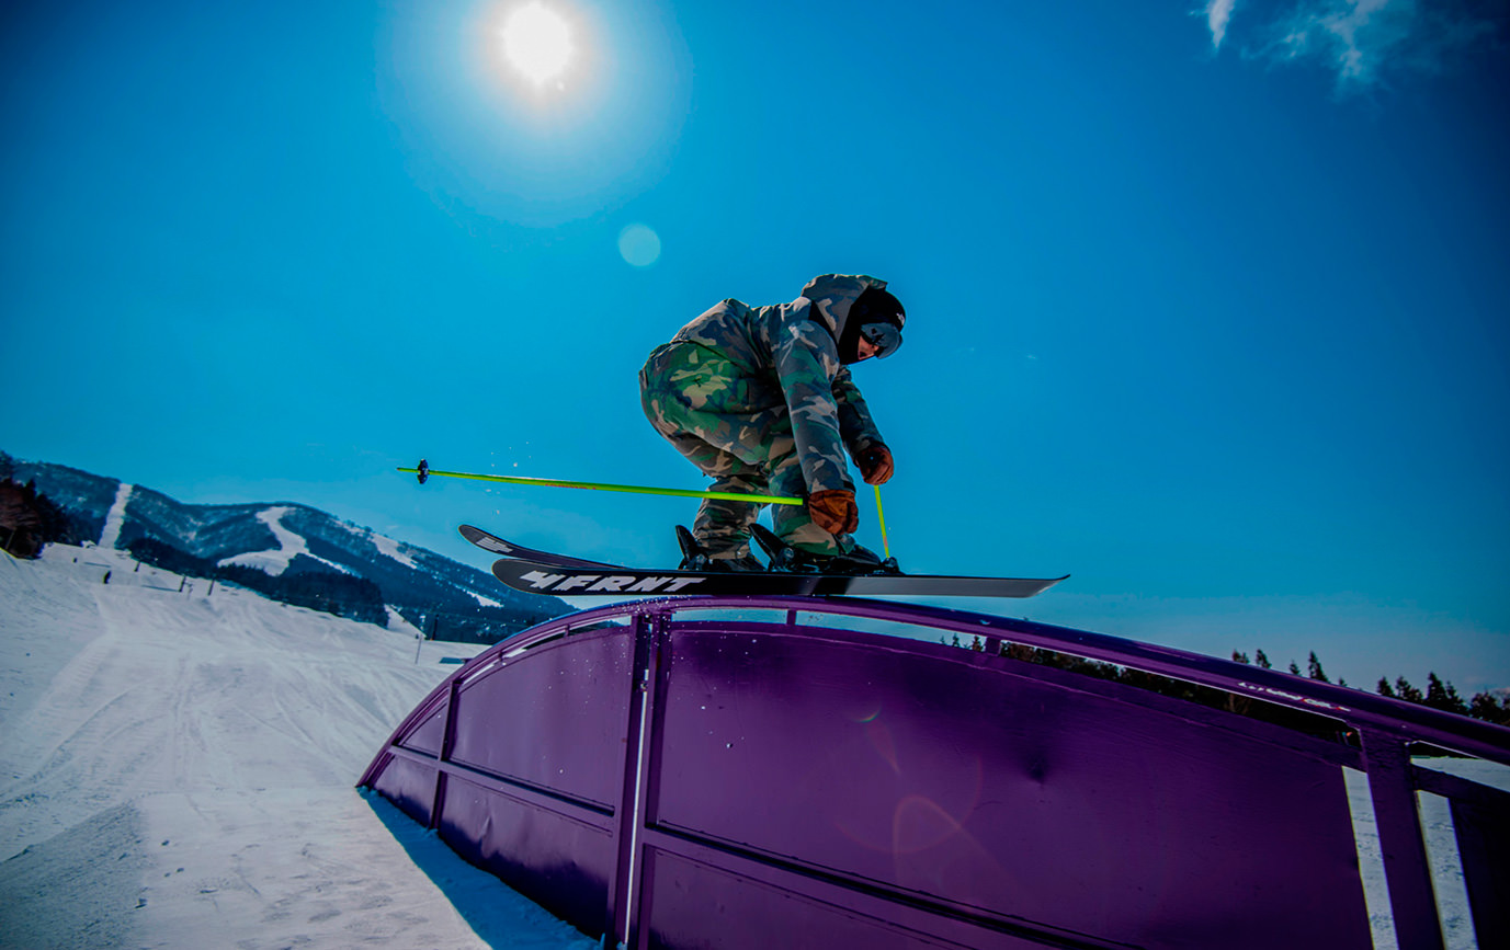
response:
M806 499L772 511L799 567L868 573L880 559L852 537L859 510L844 451L867 484L885 484L894 466L849 366L895 353L904 323L886 282L864 274L814 277L791 303L723 300L651 353L640 404L711 490ZM761 508L704 499L692 529L701 552L683 568L764 570L749 547Z

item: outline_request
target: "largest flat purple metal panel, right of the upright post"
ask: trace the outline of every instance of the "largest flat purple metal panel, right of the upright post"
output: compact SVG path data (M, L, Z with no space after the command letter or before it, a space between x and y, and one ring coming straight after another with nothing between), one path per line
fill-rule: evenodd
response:
M1342 771L1320 749L909 647L673 633L651 823L1132 945L1371 945Z

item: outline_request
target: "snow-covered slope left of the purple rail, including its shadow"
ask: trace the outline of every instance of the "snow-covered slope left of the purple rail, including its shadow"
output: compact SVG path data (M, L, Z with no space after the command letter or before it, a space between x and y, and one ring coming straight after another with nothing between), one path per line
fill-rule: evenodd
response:
M480 647L134 567L0 555L0 947L596 945L353 789Z

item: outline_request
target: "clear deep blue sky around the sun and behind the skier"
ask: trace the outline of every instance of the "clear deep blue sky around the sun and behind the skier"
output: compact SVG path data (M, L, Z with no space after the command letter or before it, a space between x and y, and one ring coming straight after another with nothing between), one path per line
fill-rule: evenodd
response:
M393 469L701 487L648 351L871 273L904 568L1510 686L1505 3L550 0L544 87L507 2L223 6L0 14L11 454L664 564L695 502Z

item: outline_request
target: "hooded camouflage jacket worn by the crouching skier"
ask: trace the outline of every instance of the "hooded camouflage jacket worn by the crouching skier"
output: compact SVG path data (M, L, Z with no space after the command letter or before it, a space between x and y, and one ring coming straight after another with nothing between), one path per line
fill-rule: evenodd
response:
M853 490L843 449L858 457L882 442L849 368L840 363L837 342L850 305L871 287L886 282L824 274L791 303L723 300L672 338L716 350L734 363L752 409L787 404L809 492Z

